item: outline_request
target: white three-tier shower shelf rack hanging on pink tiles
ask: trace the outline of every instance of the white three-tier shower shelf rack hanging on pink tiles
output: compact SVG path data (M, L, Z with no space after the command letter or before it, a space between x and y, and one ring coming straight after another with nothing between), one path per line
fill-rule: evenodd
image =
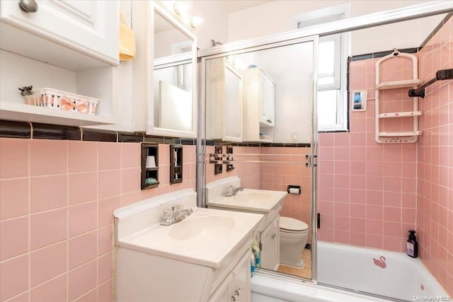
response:
M393 59L395 57L404 57L412 60L412 79L406 79L401 81L380 81L380 68L381 64L386 60ZM394 143L415 143L418 141L418 136L422 134L418 130L418 117L422 115L422 112L418 110L418 97L412 98L413 111L406 112L379 112L379 91L388 89L399 89L399 88L415 88L420 84L418 79L418 59L414 54L406 54L394 50L393 53L382 57L376 62L375 66L376 74L376 93L375 93L375 105L376 105L376 117L375 117L375 140L378 144L394 144ZM384 132L381 130L382 119L389 118L412 118L413 130L408 132Z

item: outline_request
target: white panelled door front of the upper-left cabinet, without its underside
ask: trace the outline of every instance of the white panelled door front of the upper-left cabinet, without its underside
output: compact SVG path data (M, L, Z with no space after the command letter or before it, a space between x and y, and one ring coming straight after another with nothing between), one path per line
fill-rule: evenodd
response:
M118 62L117 1L37 1L25 12L19 1L0 2L0 20L105 62ZM17 37L20 39L21 37ZM39 48L40 45L33 45Z

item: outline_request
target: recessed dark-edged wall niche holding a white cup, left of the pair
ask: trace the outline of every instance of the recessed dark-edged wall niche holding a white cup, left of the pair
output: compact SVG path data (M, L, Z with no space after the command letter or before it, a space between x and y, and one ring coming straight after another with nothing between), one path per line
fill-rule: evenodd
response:
M142 143L142 190L159 186L159 145Z

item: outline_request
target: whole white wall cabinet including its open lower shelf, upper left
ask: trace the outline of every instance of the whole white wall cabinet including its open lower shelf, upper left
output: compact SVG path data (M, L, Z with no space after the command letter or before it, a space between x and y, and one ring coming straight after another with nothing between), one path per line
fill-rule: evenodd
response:
M117 122L123 112L115 112L115 98L125 103L127 91L117 66L119 3L1 1L0 119L71 126ZM52 105L38 98L35 105L25 104L18 91L23 86L98 99L96 114L63 110L55 99Z

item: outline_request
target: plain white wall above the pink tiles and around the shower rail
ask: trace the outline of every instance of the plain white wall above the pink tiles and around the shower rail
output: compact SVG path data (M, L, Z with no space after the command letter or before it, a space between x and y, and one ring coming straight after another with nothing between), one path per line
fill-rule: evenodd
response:
M229 14L229 42L263 37L293 30L293 17L307 11L344 4L348 1L270 1ZM350 1L351 17L377 11L421 4L428 1ZM366 54L392 50L394 47L418 47L442 16L432 16L352 33L351 51Z

